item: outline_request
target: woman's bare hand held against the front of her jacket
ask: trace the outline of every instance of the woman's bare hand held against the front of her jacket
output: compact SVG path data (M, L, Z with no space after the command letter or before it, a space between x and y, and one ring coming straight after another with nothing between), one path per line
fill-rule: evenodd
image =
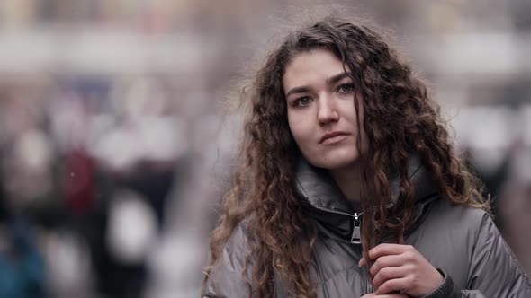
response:
M369 250L369 257L374 259L370 273L375 294L400 292L417 297L432 293L444 282L437 269L410 245L380 244ZM359 265L366 265L364 258Z

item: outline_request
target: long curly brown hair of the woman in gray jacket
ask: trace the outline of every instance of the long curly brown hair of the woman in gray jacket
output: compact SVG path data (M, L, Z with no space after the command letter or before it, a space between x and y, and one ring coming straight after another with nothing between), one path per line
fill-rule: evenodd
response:
M384 231L394 231L396 242L403 242L414 205L415 189L407 172L411 152L419 153L442 197L455 205L488 209L481 183L460 161L440 108L428 97L426 85L381 35L364 25L327 17L288 35L266 59L254 82L241 92L252 105L240 153L243 162L233 176L220 221L211 234L205 281L225 241L238 224L244 224L250 248L242 278L250 296L273 296L275 274L291 295L316 297L310 263L317 233L294 193L294 161L300 152L288 126L283 86L285 66L312 49L329 50L343 62L361 95L354 96L353 101L365 110L361 124L369 146L363 158L361 196L365 259ZM361 142L357 144L361 152ZM386 209L392 200L391 169L398 171L401 197L392 218ZM247 270L251 270L251 280Z

